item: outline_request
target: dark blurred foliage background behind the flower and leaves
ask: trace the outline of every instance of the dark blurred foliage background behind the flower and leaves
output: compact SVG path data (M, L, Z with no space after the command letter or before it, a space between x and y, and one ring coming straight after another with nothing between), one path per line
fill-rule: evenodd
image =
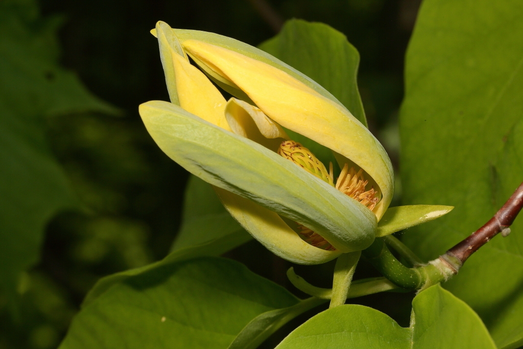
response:
M45 118L51 152L82 209L61 212L47 224L40 261L19 280L16 309L0 298L2 349L55 347L98 278L159 260L169 251L188 174L156 147L138 115L140 103L168 100L157 41L149 33L157 20L254 46L274 36L290 18L321 21L342 31L361 55L358 80L369 127L397 169L403 59L419 0L47 0L37 4L40 14L32 1L13 3L32 9L27 21L31 30L52 19L59 28L60 65L118 108L119 115L74 112ZM8 26L5 22L3 30ZM396 203L400 185L397 192ZM285 276L290 264L257 242L226 256L300 295ZM310 282L328 287L332 268L296 269ZM363 264L356 278L372 273ZM357 301L406 326L411 299L385 294ZM285 335L292 326L276 335Z

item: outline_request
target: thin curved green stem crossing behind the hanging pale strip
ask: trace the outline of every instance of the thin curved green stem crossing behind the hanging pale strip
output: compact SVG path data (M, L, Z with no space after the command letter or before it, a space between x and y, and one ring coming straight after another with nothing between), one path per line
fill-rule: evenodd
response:
M305 281L301 276L294 273L294 268L289 268L287 271L287 277L292 285L299 290L321 299L332 298L332 288L316 287ZM399 286L391 283L390 280L384 277L371 277L367 279L355 280L350 284L349 293L347 299L357 298L367 295L372 295L379 292L390 291L390 290L403 290Z

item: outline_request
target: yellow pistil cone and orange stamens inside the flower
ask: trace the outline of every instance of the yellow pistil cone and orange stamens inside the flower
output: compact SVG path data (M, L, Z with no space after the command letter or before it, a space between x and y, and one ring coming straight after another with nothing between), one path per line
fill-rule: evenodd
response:
M369 181L366 181L366 179L363 178L363 170L361 169L356 172L354 167L350 167L349 170L349 165L345 164L342 172L339 174L336 185L334 185L332 162L329 164L329 172L327 172L325 165L318 160L309 149L303 147L300 143L294 141L283 141L280 144L277 153L285 157L285 159L299 165L305 171L322 179L328 184L335 186L340 192L360 202L360 204L367 207L369 210L372 210L379 201L379 198L376 196L378 193L374 188L365 190ZM303 236L304 240L312 246L327 251L336 250L331 243L322 237L322 235L302 226L300 223L298 223L298 229L300 230L300 234Z

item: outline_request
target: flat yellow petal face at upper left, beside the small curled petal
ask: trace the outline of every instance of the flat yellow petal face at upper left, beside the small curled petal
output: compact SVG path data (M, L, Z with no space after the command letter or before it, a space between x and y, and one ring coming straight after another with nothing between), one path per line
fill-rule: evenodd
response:
M184 57L173 54L180 107L203 120L231 131L225 119L225 98L210 80Z

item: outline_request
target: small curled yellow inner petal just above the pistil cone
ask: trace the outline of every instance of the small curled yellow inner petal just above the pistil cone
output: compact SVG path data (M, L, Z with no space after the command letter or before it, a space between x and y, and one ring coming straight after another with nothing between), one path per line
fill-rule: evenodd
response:
M234 133L276 151L287 133L261 109L243 100L231 98L225 107L225 118Z

